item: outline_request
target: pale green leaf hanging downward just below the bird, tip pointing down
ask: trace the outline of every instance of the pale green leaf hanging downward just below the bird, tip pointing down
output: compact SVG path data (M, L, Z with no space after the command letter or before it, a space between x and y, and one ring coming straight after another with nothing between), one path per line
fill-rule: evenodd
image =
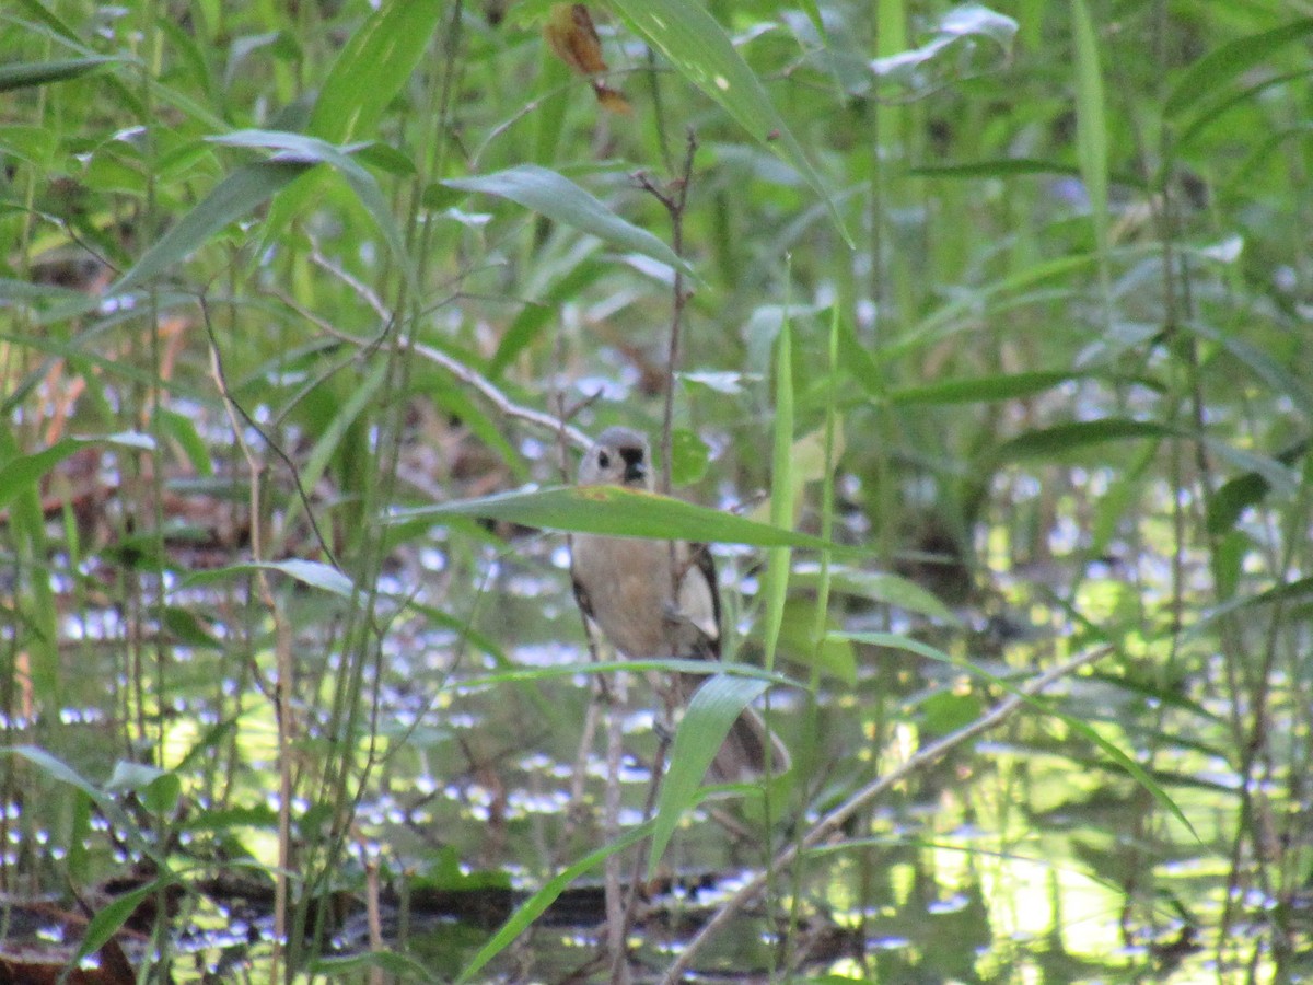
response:
M688 703L670 750L670 770L660 787L653 841L647 854L649 877L655 872L680 818L697 805L706 770L739 714L764 691L765 682L716 674L702 682Z

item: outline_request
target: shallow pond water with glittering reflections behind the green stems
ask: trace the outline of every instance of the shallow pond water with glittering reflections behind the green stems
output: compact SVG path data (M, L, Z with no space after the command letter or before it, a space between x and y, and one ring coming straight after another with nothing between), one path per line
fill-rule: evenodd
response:
M1222 753L1225 667L1204 659L1203 671L1173 676L1137 661L1129 633L1109 641L1057 602L1079 598L1086 616L1113 612L1130 604L1130 575L1140 592L1166 591L1153 583L1162 565L1146 556L1128 573L1127 562L1057 552L1037 575L991 558L989 536L981 554L987 591L974 590L949 620L877 604L860 573L835 567L834 629L851 638L831 640L838 655L821 672L790 659L798 654L785 634L780 670L797 683L772 691L769 721L792 751L790 772L695 800L655 865L646 842L616 856L613 877L637 890L633 981L662 980L731 900L733 917L721 914L689 963L700 978L1313 974L1309 898L1264 886L1266 862L1246 860L1237 841L1245 812L1295 809L1283 806L1285 791L1300 784L1278 770L1242 796ZM752 659L758 558L742 548L717 556L733 647ZM72 851L77 872L102 880L92 909L140 897L122 938L129 961L164 947L175 981L261 978L278 936L269 867L289 774L280 756L290 755L297 789L310 793L297 796L288 839L309 877L294 881L301 906L285 932L302 935L306 971L449 980L530 908L545 911L474 980L612 980L601 859L550 898L540 890L651 814L649 764L670 733L650 675L586 672L567 563L559 536L519 532L471 549L465 533L433 529L421 549L390 558L379 579L386 634L368 659L343 655L340 599L281 586L295 626L297 717L295 741L282 746L270 686L280 644L243 612L242 579L165 579L177 611L214 616L165 625L164 659L144 667L125 662L133 647L121 615L70 615L66 661L76 672L63 721L12 721L9 742L45 737L68 768L97 777L92 800L118 813L87 816L49 763L11 759L11 942L22 939L24 914L35 950L67 955L59 942L81 939L76 921L55 934L55 910L32 917L17 902L58 889L45 873ZM800 604L815 575L800 562ZM913 642L860 642L871 640ZM1087 666L1028 703L1015 699L1036 672L1081 654ZM348 678L353 692L343 691ZM1010 700L1006 717L955 742ZM1272 707L1291 700L1278 679ZM156 774L104 779L134 755L142 721L167 775L181 780L172 796L152 788ZM608 742L622 751L609 780ZM937 742L943 755L927 758ZM863 787L890 776L853 806ZM842 822L826 821L835 810ZM160 863L169 879L159 879ZM763 877L762 892L737 900ZM156 897L167 900L167 944L151 943ZM404 960L374 961L372 950Z

